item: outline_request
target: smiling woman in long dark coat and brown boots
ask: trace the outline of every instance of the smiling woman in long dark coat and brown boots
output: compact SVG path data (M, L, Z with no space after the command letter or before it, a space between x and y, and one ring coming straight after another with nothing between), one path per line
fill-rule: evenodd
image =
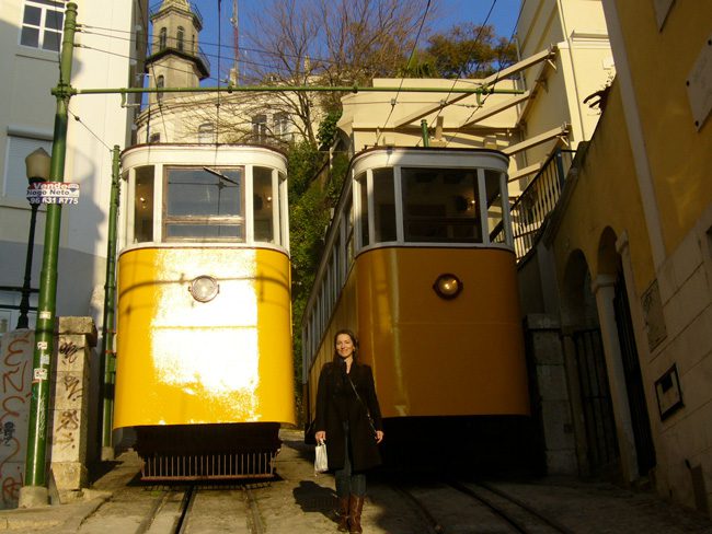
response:
M334 336L334 359L319 375L314 438L329 439L329 468L338 497L338 531L364 532L360 525L366 469L381 463L381 410L371 368L358 362L358 340L343 329Z

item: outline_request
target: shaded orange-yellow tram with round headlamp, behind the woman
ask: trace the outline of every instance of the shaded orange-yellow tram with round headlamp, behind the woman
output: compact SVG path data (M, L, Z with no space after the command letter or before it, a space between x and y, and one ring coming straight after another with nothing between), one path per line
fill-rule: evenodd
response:
M530 418L507 166L485 149L354 156L302 322L308 440L334 333L352 328L389 461L446 439L483 462L493 448L516 454Z

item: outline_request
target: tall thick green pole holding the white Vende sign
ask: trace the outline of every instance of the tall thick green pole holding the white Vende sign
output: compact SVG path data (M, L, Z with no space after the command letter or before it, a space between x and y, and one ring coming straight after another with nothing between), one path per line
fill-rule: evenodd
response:
M71 63L74 51L77 4L69 2L65 14L65 28L59 59L59 83L53 90L57 98L55 137L51 147L50 182L64 182L67 152L67 117L71 97ZM45 225L45 249L39 277L37 326L32 371L32 400L30 403L30 429L25 461L24 486L20 489L20 507L47 504L46 449L47 418L49 411L49 379L51 355L55 350L55 310L57 304L57 255L61 205L49 204Z

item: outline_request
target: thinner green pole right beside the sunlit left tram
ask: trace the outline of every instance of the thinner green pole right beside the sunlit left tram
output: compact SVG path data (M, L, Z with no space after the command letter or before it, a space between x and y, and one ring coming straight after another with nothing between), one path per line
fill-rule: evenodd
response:
M108 245L106 246L106 283L104 286L104 324L102 326L102 461L114 460L112 421L114 416L114 375L116 353L114 352L114 304L116 300L116 219L120 194L119 149L112 151L112 196L108 208Z

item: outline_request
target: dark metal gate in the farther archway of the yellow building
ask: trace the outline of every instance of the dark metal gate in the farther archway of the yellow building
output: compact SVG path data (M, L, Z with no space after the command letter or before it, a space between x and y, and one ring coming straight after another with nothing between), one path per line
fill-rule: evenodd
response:
M601 475L618 469L619 453L600 329L577 330L572 338L576 347L588 466L592 475Z

